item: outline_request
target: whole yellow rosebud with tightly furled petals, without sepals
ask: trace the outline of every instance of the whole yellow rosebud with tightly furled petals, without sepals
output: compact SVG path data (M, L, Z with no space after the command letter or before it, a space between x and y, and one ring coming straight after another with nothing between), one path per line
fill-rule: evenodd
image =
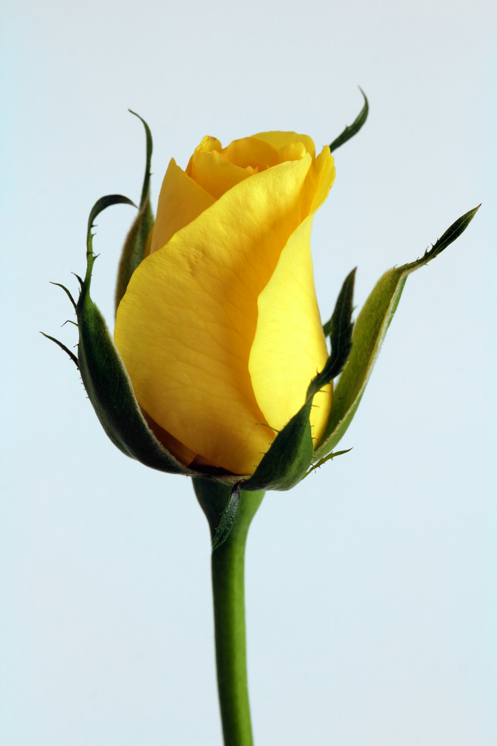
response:
M114 336L146 419L186 465L251 474L323 369L310 233L334 178L329 147L315 157L294 132L204 137L186 171L171 160ZM313 405L317 444L331 386Z

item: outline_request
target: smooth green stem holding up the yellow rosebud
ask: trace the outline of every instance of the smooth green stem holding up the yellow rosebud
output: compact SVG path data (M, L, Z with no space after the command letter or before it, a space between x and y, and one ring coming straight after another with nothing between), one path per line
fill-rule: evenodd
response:
M229 498L229 487L194 479L197 500L211 536ZM218 693L225 746L252 746L245 643L244 560L247 532L264 492L240 492L235 524L227 540L212 552L212 592Z

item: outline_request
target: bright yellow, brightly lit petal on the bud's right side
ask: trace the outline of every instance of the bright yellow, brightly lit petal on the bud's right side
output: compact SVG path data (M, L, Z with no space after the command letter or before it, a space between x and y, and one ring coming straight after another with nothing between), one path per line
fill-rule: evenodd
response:
M257 403L277 430L303 406L311 379L328 357L314 291L311 225L309 216L291 235L258 301L249 370ZM331 401L331 386L314 396L314 445L323 433Z

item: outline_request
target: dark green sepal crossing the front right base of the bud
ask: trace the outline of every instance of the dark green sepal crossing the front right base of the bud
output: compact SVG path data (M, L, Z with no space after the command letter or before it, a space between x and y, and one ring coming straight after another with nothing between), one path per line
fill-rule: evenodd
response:
M270 449L262 457L253 475L241 483L243 489L291 489L306 476L314 458L311 414L312 399L317 392L338 376L344 368L352 345L352 296L355 269L342 286L333 313L332 351L323 370L311 380L306 402L288 424L277 433Z

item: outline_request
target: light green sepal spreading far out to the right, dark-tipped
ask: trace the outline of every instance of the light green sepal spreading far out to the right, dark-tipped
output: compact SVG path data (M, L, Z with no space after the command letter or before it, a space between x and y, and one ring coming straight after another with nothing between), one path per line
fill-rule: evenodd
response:
M349 427L373 370L384 336L390 326L393 314L396 312L408 275L424 264L428 264L452 241L455 241L466 230L478 207L469 210L468 213L456 220L443 233L443 236L432 245L431 249L425 251L423 257L415 262L388 270L374 286L373 292L367 298L355 322L352 335L352 352L344 372L335 386L329 421L320 445L314 453L314 460L322 459L326 454L329 454Z

